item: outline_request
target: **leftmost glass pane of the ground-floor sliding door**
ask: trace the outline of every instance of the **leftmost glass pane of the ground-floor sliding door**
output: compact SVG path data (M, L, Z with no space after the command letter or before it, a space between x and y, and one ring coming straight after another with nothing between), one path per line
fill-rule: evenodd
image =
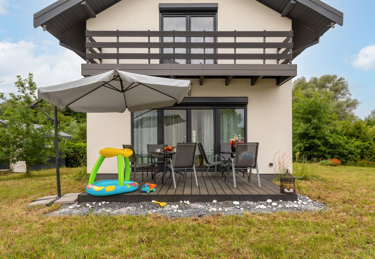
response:
M133 136L136 155L147 155L147 144L157 144L157 110L133 113Z

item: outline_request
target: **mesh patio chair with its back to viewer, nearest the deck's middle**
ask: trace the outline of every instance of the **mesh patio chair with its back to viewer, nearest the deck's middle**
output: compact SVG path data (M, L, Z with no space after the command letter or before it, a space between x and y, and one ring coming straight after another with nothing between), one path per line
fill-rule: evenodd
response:
M196 143L178 143L177 144L177 152L175 156L175 161L173 164L173 161L171 158L166 158L166 160L169 160L170 164L167 164L167 167L171 169L171 174L173 177L173 186L174 189L176 189L176 180L174 177L175 170L184 170L184 174L176 171L176 173L183 174L184 181L186 180L186 170L187 169L193 169L194 176L195 176L195 183L196 186L198 185L198 177L196 175L195 171L195 164L194 164L194 157L195 157L195 150L196 150Z

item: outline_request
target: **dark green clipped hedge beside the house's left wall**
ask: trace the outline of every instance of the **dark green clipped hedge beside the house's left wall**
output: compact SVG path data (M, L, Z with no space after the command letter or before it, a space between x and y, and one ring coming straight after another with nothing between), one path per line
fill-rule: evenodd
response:
M87 144L67 141L66 143L66 167L86 167Z

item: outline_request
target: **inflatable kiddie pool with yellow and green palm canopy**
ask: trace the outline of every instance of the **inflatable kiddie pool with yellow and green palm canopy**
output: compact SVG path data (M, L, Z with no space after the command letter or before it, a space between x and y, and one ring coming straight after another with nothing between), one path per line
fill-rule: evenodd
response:
M130 181L130 162L129 156L133 154L130 149L104 148L99 151L99 159L96 161L91 171L89 184L86 186L86 192L95 196L104 196L112 194L123 194L133 192L138 189L138 183ZM105 158L117 156L118 180L101 180L95 182L96 174ZM125 175L124 175L125 163Z

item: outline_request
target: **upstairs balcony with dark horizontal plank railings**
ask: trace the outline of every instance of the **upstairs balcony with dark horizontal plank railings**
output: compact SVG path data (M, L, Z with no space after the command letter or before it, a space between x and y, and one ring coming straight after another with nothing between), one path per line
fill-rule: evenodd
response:
M199 78L201 85L204 78L224 78L225 85L233 78L249 78L251 85L261 78L275 78L282 85L297 75L292 48L293 31L87 30L82 75L117 68L151 76ZM163 53L164 49L171 53ZM185 53L177 53L181 49Z

